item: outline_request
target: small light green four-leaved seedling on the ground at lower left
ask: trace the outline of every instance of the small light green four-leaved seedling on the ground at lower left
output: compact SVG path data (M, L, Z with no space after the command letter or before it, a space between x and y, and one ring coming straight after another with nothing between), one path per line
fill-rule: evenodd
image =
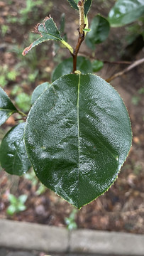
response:
M13 215L14 213L19 213L23 210L26 210L26 200L28 196L26 195L21 195L16 198L16 196L13 196L11 193L9 194L9 203L10 205L6 209L6 213L8 215Z

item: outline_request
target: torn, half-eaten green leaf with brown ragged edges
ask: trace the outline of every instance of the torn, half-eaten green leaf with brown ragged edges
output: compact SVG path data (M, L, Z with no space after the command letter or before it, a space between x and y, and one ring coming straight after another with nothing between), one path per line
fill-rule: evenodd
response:
M40 38L38 38L36 41L31 43L30 46L26 47L23 50L23 55L26 55L33 47L38 46L40 43L43 43L45 41L54 40L54 41L60 41L67 47L71 53L73 53L72 47L62 39L60 36L60 32L57 29L57 26L55 25L55 22L50 17L46 17L43 21L43 23L38 23L37 26L35 26L35 33L38 33L40 35Z

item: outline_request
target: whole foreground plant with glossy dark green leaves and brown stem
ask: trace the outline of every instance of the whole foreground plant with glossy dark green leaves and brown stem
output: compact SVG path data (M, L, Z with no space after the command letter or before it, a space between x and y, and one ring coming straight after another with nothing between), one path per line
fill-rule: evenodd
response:
M26 123L13 127L1 142L0 161L5 171L19 176L32 165L46 187L81 208L116 180L131 148L132 134L120 95L108 82L92 74L103 63L77 57L79 48L86 39L94 50L106 40L111 26L123 26L140 18L144 2L118 0L109 17L95 16L89 29L87 16L92 0L68 1L79 12L76 47L72 48L62 34L64 22L61 31L50 16L35 26L38 39L23 50L23 55L50 40L67 48L70 55L55 68L51 84L45 82L34 90L28 117L21 112ZM3 124L19 111L2 89L0 96Z

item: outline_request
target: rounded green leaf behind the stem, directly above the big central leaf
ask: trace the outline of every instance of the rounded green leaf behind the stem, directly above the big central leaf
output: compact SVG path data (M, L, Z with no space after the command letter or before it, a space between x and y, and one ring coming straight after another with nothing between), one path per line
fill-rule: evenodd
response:
M54 72L52 73L52 82L55 81L57 78L60 78L62 75L67 75L72 73L72 70L73 70L72 58L63 60L62 63L57 65ZM77 70L79 70L83 74L92 73L92 64L87 58L78 56Z

